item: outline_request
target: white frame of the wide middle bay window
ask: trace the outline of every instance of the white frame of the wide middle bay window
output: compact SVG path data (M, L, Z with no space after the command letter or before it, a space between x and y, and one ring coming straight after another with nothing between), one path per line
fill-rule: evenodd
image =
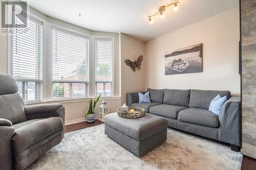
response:
M71 34L71 35L74 35L74 36L78 36L78 37L81 37L81 38L86 38L86 39L88 39L88 41L89 41L89 45L88 45L88 59L87 59L87 75L86 76L88 76L88 79L87 79L87 81L75 81L75 80L54 80L53 78L52 78L52 71L53 71L53 66L52 66L52 58L53 58L53 56L52 56L52 46L53 46L53 41L52 41L52 31L53 30L57 30L57 31L60 31L60 32L63 32L63 33L67 33L67 34ZM51 61L51 100L52 101L55 101L55 100L69 100L69 99L88 99L89 98L89 96L90 96L90 72L89 72L89 70L90 70L90 46L91 46L91 41L90 41L90 36L88 36L88 35L86 35L86 34L82 34L82 33L77 33L76 31L71 31L71 30L68 30L67 28L66 29L63 29L63 28L61 28L61 27L57 27L57 26L51 26L51 30L50 30L50 36L51 36L51 39L50 39L50 41L51 41L51 49L50 49L50 51L51 51L51 58L50 58L50 61ZM69 91L69 98L59 98L59 99L54 99L53 98L53 83L69 83L69 88L70 88L70 91ZM81 98L73 98L72 96L71 96L71 85L72 85L72 83L84 83L85 84L85 90L86 90L86 96L84 96L84 97L81 97Z

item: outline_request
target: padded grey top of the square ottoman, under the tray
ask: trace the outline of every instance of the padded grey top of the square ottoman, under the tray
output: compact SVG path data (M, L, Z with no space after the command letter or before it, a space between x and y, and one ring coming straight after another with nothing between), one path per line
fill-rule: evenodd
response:
M122 118L117 113L104 116L104 124L138 141L147 139L168 127L166 119L145 114L141 118Z

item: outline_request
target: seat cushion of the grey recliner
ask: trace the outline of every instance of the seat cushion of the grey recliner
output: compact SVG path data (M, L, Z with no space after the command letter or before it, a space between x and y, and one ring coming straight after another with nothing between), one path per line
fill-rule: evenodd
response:
M13 152L18 155L36 142L62 130L63 121L60 117L49 117L20 127L12 138Z

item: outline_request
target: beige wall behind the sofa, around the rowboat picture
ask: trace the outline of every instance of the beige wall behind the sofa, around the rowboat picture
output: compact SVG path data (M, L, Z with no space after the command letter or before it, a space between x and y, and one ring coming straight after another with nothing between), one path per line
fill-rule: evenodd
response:
M230 90L240 94L239 9L235 8L145 43L145 89ZM203 43L203 72L164 75L164 53Z

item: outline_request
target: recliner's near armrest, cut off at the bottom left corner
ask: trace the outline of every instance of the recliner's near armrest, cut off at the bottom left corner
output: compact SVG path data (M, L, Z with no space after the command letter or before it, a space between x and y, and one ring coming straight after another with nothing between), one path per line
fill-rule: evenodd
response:
M12 138L15 129L11 126L0 126L0 169L12 169Z

